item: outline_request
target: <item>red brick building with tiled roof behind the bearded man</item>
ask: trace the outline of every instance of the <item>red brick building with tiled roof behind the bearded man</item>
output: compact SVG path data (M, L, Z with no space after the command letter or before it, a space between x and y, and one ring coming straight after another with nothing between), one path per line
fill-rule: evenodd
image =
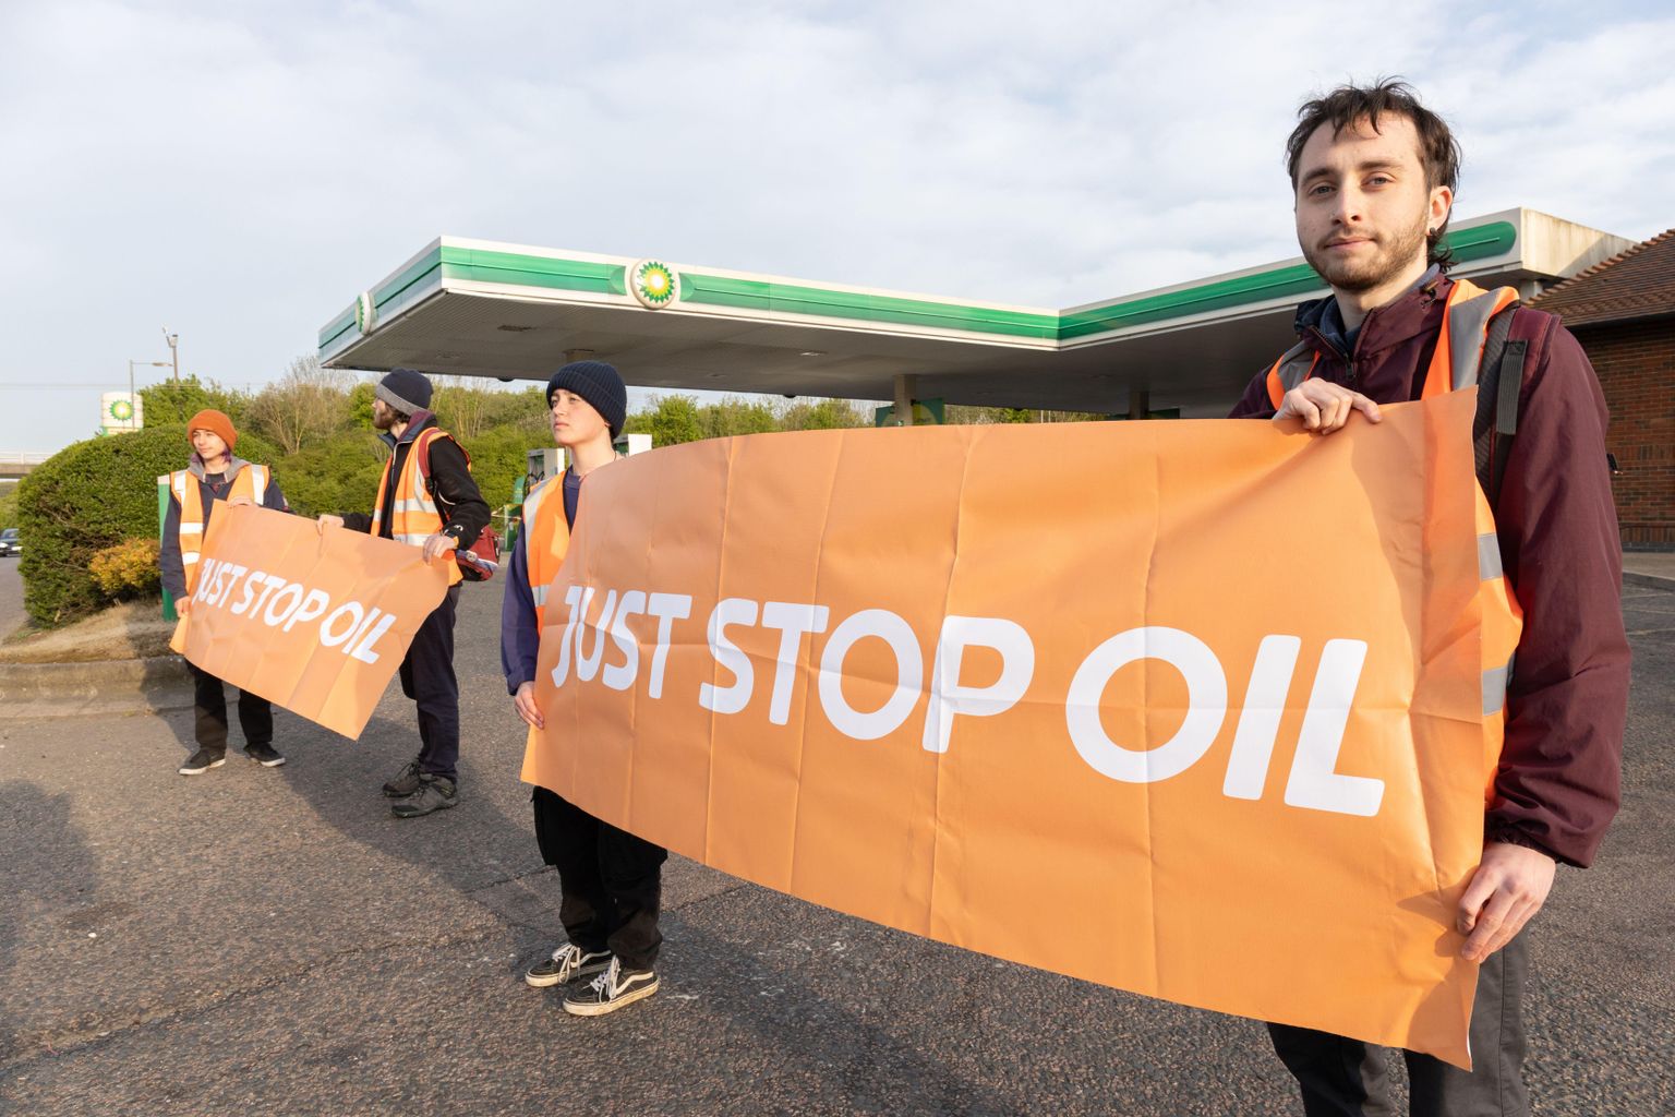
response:
M1675 229L1531 300L1576 335L1611 407L1623 548L1675 549Z

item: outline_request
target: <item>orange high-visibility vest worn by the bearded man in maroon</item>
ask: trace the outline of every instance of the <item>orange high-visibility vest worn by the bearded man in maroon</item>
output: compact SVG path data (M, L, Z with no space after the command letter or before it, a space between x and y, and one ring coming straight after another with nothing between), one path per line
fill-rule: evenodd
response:
M1430 368L1425 372L1425 387L1420 399L1434 399L1444 392L1456 392L1477 385L1477 373L1482 368L1482 350L1489 340L1489 320L1518 301L1518 291L1502 286L1486 291L1467 280L1456 280L1449 291L1449 301L1442 308L1442 327L1437 337L1437 348L1430 357ZM1300 385L1315 372L1320 353L1312 345L1298 343L1273 363L1268 370L1268 399L1275 409L1280 407L1285 394ZM1521 368L1509 368L1504 375L1521 377ZM1494 774L1501 757L1501 744L1506 730L1506 685L1513 677L1513 655L1518 651L1518 640L1524 631L1524 611L1518 605L1518 595L1511 579L1501 569L1501 543L1494 529L1494 511L1482 492L1482 484L1476 489L1477 519L1477 596L1482 605L1482 717L1484 717L1484 759L1487 762L1487 799L1494 800Z

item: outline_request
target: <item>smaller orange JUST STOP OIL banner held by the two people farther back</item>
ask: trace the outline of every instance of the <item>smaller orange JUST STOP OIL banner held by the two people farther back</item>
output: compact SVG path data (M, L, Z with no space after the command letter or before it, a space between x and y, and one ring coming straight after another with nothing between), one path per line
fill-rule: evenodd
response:
M419 548L256 506L216 506L171 648L241 690L360 737L447 566Z

